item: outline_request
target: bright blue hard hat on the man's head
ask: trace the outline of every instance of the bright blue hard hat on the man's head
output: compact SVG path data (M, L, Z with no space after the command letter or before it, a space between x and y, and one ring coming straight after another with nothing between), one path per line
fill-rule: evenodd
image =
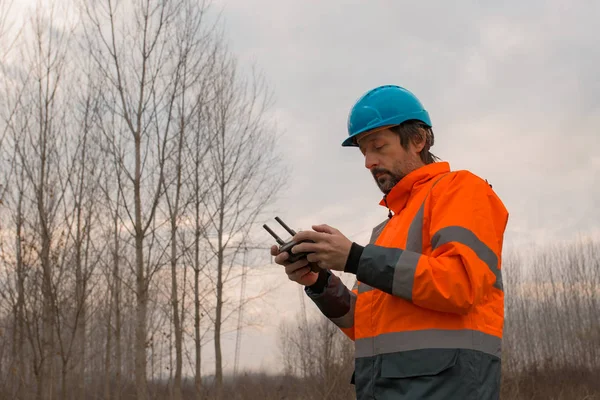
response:
M429 114L410 91L396 85L376 87L365 93L348 115L348 137L342 146L358 146L355 136L376 128L419 120L431 127Z

